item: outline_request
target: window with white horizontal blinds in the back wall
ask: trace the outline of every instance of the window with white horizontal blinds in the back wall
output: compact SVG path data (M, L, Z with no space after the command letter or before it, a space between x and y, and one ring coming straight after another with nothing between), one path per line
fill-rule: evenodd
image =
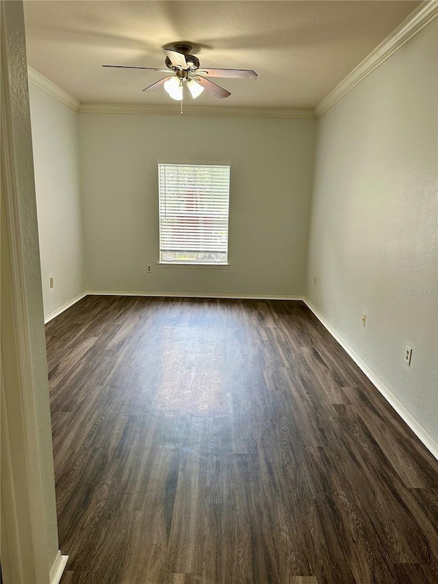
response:
M227 264L230 167L159 164L159 262Z

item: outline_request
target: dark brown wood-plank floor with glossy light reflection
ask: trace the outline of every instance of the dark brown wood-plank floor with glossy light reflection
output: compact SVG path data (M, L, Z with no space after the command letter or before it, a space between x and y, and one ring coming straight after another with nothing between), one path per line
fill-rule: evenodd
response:
M47 325L62 584L438 582L438 463L300 302Z

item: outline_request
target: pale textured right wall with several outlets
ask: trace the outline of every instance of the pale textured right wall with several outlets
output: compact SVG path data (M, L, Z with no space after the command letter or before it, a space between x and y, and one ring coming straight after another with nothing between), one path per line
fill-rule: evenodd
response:
M318 120L307 266L311 303L435 442L437 28Z

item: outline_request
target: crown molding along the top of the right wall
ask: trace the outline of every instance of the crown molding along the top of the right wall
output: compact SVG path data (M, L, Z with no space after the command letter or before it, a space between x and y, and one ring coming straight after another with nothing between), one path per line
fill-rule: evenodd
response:
M438 17L438 1L426 0L420 4L380 45L366 57L351 73L315 106L315 117L319 118L339 99L354 89L365 77L381 66L391 55L407 44L414 36Z

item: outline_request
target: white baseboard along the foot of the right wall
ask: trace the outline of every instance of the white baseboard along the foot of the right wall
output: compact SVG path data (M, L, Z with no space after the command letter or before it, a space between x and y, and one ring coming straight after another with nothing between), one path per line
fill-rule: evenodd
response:
M433 438L426 432L426 430L424 430L424 428L422 426L420 426L420 424L415 420L415 418L413 418L413 416L411 416L411 414L409 414L409 411L407 411L407 409L404 407L404 405L402 405L398 401L396 396L394 396L394 394L386 387L386 385L384 383L382 383L382 381L380 379L378 379L376 374L374 374L374 372L372 372L372 370L367 365L365 365L365 363L362 361L361 357L359 357L359 355L357 355L357 353L355 353L355 351L353 351L353 349L342 338L342 336L339 335L339 333L337 333L337 331L335 331L335 329L333 329L333 327L329 324L329 322L326 321L324 316L322 316L322 314L320 314L320 312L318 312L318 310L312 305L312 303L306 297L303 298L303 301L311 309L311 311L316 316L316 318L318 318L318 320L320 320L322 325L324 325L324 327L329 331L329 333L342 346L342 348L344 348L344 351L346 351L346 353L348 353L348 355L350 355L352 360L355 361L355 364L357 364L357 366L363 371L363 373L365 373L365 375L368 377L368 379L370 379L371 383L376 386L376 388L378 389L379 392L381 392L381 394L383 395L385 400L389 403L389 405L391 405L391 407L393 407L396 410L396 412L400 416L400 418L402 418L402 420L409 426L409 428L413 431L413 433L422 441L422 443L424 444L424 446L426 446L426 448L430 451L430 453L436 459L438 459L438 444L437 444L437 442L435 442L435 440L433 440Z

